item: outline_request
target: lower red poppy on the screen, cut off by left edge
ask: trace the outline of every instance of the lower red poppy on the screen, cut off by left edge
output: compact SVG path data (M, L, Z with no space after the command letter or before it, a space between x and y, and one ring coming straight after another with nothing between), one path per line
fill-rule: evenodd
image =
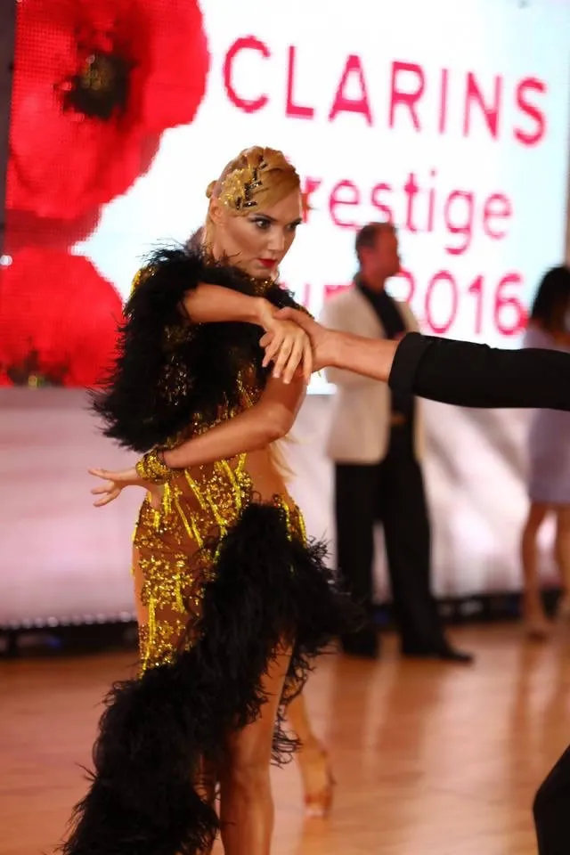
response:
M0 384L96 386L121 316L121 298L88 258L22 249L0 267Z

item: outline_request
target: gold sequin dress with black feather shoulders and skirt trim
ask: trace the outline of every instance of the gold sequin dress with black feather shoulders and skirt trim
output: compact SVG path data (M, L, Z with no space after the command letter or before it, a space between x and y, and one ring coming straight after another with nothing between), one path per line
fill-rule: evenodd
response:
M134 451L208 430L255 406L265 387L258 328L184 320L183 296L199 282L259 293L259 283L195 252L153 256L94 398L107 436ZM279 286L264 293L296 305ZM143 501L134 533L142 667L106 699L94 777L64 855L209 851L218 819L200 795L201 769L222 763L228 734L255 721L284 639L292 652L282 705L346 626L350 607L325 554L307 542L269 449L180 471L158 510ZM281 723L280 715L277 762L295 747Z

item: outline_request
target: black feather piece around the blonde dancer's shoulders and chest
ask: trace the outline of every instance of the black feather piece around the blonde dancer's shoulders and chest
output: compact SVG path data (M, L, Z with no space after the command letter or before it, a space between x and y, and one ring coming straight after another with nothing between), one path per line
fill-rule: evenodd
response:
M240 322L194 324L183 298L200 283L221 285L279 307L297 304L278 284L188 248L160 248L136 275L120 327L118 356L93 406L105 435L136 452L164 444L197 418L240 404L240 375L265 386L260 330Z

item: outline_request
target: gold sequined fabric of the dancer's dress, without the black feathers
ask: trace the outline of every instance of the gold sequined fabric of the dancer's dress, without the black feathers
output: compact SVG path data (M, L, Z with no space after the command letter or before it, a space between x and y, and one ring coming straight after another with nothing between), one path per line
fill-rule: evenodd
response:
M188 430L168 445L198 436L237 412L253 406L261 394L255 373L240 372L240 405L222 408L215 421L197 416ZM217 554L229 528L254 501L254 485L247 469L247 455L231 460L175 470L163 488L159 510L150 497L142 503L134 532L134 577L144 619L140 625L142 672L173 661L180 649L199 638L202 601L213 580ZM289 536L305 538L300 511L283 496L274 496L287 522Z

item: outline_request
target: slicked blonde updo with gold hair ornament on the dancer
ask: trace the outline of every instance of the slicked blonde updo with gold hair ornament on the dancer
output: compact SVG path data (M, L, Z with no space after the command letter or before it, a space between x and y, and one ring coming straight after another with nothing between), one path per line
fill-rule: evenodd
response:
M210 199L203 243L211 250L216 223L211 216L212 199L219 200L232 216L247 216L270 208L290 193L300 190L300 180L282 151L255 145L230 160L216 181L208 184Z

